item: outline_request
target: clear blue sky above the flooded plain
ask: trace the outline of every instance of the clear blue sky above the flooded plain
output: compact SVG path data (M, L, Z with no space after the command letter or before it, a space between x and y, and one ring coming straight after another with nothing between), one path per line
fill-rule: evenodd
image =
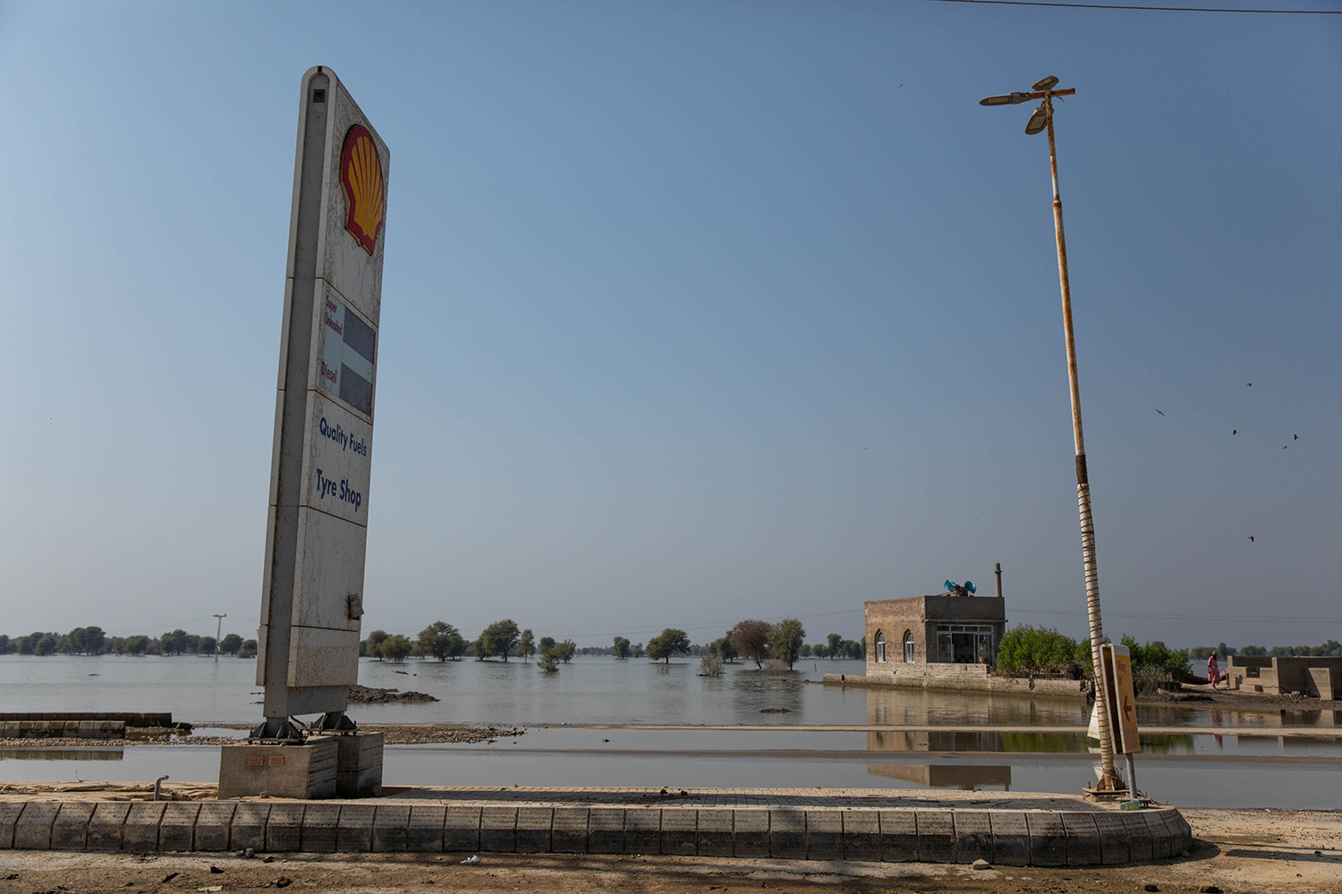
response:
M3 633L255 629L313 64L392 147L365 630L1001 562L1080 634L1047 145L977 105L1056 74L1106 631L1342 638L1342 16L922 0L0 4Z

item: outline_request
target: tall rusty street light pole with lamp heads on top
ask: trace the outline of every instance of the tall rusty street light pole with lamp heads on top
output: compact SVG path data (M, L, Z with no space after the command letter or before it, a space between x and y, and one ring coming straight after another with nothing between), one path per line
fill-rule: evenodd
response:
M1057 78L1044 78L1035 84L1033 92L1013 92L1004 97L988 97L980 105L1017 105L1029 99L1043 99L1043 105L1025 127L1027 134L1048 130L1048 166L1053 176L1053 232L1057 237L1057 285L1063 295L1063 335L1067 342L1067 383L1072 398L1072 438L1076 442L1076 509L1082 524L1082 564L1086 570L1086 606L1090 617L1091 667L1095 680L1095 713L1099 721L1100 791L1123 788L1114 767L1114 730L1110 725L1107 694L1100 663L1100 643L1104 629L1099 615L1099 571L1095 563L1095 521L1090 508L1090 476L1086 472L1086 436L1082 432L1082 393L1076 382L1076 338L1072 332L1072 287L1067 279L1067 237L1063 233L1063 200L1057 192L1057 150L1053 145L1053 97L1070 97L1075 90L1053 90ZM1039 122L1043 113L1044 122ZM1135 787L1133 791L1135 797Z

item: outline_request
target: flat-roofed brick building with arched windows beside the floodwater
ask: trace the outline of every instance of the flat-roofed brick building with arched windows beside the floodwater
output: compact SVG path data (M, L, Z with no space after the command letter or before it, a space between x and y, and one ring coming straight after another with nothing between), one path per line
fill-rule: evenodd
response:
M997 659L1007 629L1001 596L909 596L864 603L867 677L935 665L980 665ZM951 670L951 667L946 667Z

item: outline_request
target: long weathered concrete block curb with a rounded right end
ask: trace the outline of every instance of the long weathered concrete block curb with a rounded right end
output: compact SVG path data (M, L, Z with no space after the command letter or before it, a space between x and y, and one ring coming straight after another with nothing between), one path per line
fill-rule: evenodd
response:
M1174 808L556 807L342 802L0 803L0 850L675 854L1111 866L1188 850Z

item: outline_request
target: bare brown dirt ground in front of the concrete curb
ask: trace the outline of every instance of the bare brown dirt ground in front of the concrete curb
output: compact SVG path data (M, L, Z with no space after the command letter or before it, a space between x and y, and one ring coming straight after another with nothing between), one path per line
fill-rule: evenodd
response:
M463 866L464 854L289 855L266 862L232 854L0 851L0 894L189 894L290 886L360 894L1342 891L1342 812L1219 810L1185 811L1185 816L1198 838L1186 856L1098 870L550 854L482 854L479 865Z

